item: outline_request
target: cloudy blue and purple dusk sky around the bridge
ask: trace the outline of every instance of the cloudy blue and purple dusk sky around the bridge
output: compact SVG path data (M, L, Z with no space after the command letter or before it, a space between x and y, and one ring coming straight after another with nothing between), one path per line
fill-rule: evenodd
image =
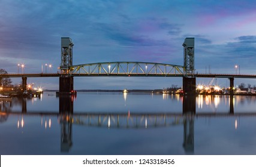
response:
M143 61L183 65L185 38L195 38L195 72L255 74L256 2L250 0L0 0L0 68L57 72L61 37L74 42L73 64ZM239 69L235 69L235 66ZM13 84L21 79L12 79ZM197 78L197 84L210 79ZM58 89L58 78L28 83ZM229 86L228 79L217 79ZM256 85L256 79L235 79ZM182 78L77 77L74 89L158 89Z

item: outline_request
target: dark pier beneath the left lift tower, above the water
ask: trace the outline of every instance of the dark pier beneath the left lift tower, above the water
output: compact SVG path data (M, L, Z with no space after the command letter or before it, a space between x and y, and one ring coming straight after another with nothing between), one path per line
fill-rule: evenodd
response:
M59 94L70 94L74 89L73 76L59 78Z

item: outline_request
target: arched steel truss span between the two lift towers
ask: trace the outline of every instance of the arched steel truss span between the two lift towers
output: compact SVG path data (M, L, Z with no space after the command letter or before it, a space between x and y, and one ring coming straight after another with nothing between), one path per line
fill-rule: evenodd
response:
M71 67L73 76L180 76L183 66L164 63L116 61Z

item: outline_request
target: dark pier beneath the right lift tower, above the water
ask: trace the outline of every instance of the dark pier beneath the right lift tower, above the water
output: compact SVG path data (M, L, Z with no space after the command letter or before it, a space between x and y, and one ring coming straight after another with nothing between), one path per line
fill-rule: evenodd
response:
M183 77L183 91L186 95L195 95L195 78Z

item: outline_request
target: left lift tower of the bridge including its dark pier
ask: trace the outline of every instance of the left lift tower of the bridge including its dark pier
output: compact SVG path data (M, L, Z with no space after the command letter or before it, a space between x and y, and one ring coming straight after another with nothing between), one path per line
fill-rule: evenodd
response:
M61 38L61 76L59 78L59 94L70 94L74 88L74 78L70 76L73 66L73 42L70 38Z

